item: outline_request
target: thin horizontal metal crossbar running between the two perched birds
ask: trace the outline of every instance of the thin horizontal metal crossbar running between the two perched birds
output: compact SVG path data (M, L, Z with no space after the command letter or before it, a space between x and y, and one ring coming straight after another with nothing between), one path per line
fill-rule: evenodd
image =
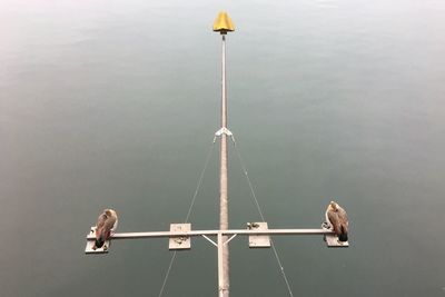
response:
M221 235L332 235L330 230L325 229L268 229L268 230L191 230L191 231L155 231L155 232L118 232L112 234L110 239L138 239L138 238L161 238L161 237L178 237L178 236L217 236ZM88 240L93 240L96 237L92 234L87 236Z

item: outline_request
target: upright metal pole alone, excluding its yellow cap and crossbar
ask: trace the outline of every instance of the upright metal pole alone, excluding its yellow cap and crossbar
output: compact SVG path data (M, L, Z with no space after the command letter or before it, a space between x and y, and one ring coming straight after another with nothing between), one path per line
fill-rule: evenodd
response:
M227 128L227 98L226 98L226 36L222 34L222 96L221 96L221 128ZM219 179L219 229L228 229L228 195L227 195L227 135L221 133L221 150L220 150L220 179ZM220 237L220 238L219 238ZM222 276L218 276L218 290L219 296L229 296L229 247L224 245L227 241L227 236L218 236L218 255L221 249L221 260L218 260L218 265L222 267L218 268L218 273L222 273Z

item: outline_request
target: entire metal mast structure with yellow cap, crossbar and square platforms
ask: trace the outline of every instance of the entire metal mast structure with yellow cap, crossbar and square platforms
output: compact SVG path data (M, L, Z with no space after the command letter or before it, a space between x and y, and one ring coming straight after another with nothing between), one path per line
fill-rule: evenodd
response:
M327 222L322 225L322 229L269 229L266 221L250 221L247 229L229 229L228 221L228 185L227 185L227 139L233 133L227 129L227 97L226 97L226 34L235 30L234 23L226 12L220 12L214 22L214 31L221 34L221 127L215 133L220 137L220 179L219 179L219 229L218 230L192 230L191 224L171 224L170 231L148 231L148 232L120 232L111 229L110 236L106 239L102 247L96 247L96 229L91 227L87 235L86 254L107 254L111 245L111 239L142 239L142 238L169 238L169 249L180 250L191 248L191 237L202 237L218 249L218 296L229 296L229 248L228 245L236 236L248 236L250 248L269 248L271 246L270 236L275 235L315 235L323 236L328 247L348 247L349 244L338 241L334 230ZM247 171L245 172L247 176ZM253 189L251 189L253 190ZM261 216L263 217L263 216ZM217 240L209 237L216 237ZM274 247L273 247L274 248ZM275 249L274 249L275 251ZM277 255L277 254L276 254ZM278 256L277 256L278 257ZM174 258L172 258L174 259ZM279 260L278 260L279 263ZM171 265L171 264L170 264ZM280 264L279 264L280 265ZM283 267L280 266L281 271ZM168 273L167 273L168 276ZM286 279L286 277L285 277ZM287 283L287 280L286 280ZM162 286L164 288L164 286ZM288 286L291 295L290 287Z

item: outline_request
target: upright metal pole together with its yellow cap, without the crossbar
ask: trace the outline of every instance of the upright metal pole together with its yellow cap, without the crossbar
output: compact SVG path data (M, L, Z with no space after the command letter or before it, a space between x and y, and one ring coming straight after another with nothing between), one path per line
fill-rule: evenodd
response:
M220 171L219 171L219 229L227 230L228 219L228 185L227 185L227 92L226 92L226 34L234 31L234 24L226 12L219 12L214 23L214 31L222 38L221 52L221 129L220 135ZM218 291L220 297L229 296L229 247L227 236L218 237ZM220 246L220 247L219 247Z

